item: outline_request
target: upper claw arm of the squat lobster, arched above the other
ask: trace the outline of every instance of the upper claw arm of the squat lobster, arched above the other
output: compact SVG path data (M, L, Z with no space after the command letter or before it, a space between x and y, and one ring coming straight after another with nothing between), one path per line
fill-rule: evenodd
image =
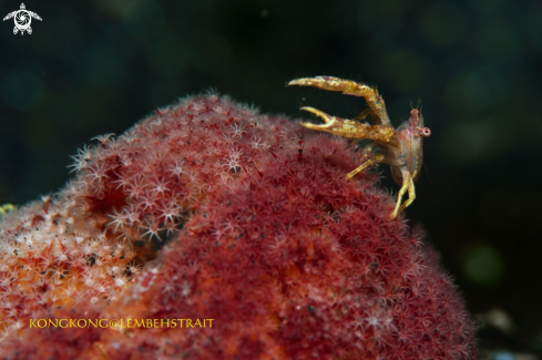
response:
M372 113L380 119L380 125L391 127L382 96L376 89L366 84L333 76L316 76L293 80L288 83L288 86L290 85L314 86L328 91L341 91L346 95L362 96Z

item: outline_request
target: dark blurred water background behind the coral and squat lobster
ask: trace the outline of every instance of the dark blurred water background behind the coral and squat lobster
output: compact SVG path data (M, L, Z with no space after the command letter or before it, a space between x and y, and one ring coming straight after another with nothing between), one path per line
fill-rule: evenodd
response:
M0 16L20 2L0 0ZM542 357L542 2L28 1L0 23L0 204L58 191L70 155L211 88L263 113L355 117L378 86L393 125L421 101L425 165L407 209L478 316L490 359ZM397 194L389 168L381 186Z

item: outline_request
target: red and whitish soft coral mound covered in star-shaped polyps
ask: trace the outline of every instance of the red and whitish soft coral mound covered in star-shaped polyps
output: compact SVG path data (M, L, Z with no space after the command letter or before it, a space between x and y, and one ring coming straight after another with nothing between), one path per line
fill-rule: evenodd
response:
M377 175L345 179L358 157L215 94L99 137L60 193L2 216L0 354L475 359L472 321L420 232L390 219Z

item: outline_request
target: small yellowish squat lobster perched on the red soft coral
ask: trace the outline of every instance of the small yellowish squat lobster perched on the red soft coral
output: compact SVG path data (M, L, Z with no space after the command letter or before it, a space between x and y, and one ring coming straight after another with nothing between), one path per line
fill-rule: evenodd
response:
M325 131L335 135L351 138L369 138L372 143L364 150L366 161L359 167L350 172L346 178L354 177L357 173L377 163L389 164L393 181L401 185L397 204L391 213L391 218L408 207L416 198L415 182L420 175L422 164L421 144L422 137L431 135L428 127L423 127L423 117L418 109L412 109L408 122L402 123L399 127L393 128L386 112L382 96L376 89L351 80L344 80L331 76L304 78L290 81L287 86L314 86L329 91L341 91L346 95L362 96L369 105L355 120L364 120L371 115L375 124L360 123L354 120L330 116L317 109L304 106L301 110L308 111L323 119L325 125L301 123L303 126L319 131ZM368 153L376 147L379 153L370 158ZM401 199L408 191L408 199L401 205Z

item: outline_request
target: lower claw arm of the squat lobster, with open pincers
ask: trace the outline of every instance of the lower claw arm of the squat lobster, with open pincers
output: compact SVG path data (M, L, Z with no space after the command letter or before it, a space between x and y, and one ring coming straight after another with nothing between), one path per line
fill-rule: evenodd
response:
M368 125L338 116L331 116L323 111L309 106L304 106L301 110L315 114L326 123L325 125L301 123L301 125L305 127L325 131L342 137L369 138L382 143L393 142L395 131L391 127L382 125Z

